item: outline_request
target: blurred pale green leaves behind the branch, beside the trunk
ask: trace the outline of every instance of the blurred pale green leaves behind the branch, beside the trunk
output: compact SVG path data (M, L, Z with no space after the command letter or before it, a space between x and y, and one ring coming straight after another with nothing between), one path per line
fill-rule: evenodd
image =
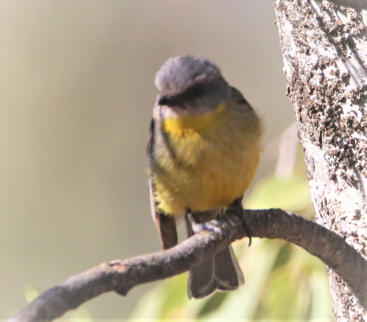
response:
M300 149L299 149L300 150ZM313 206L302 154L289 179L256 183L245 208L284 208L312 218ZM188 300L187 273L162 281L141 297L130 321L331 321L325 265L282 240L233 243L246 283L236 291Z

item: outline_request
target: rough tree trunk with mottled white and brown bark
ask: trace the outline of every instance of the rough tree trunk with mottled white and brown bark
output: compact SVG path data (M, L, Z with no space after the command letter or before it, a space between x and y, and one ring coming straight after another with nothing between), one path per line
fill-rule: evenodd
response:
M275 0L316 221L367 254L367 12L327 1ZM337 321L367 321L328 269Z

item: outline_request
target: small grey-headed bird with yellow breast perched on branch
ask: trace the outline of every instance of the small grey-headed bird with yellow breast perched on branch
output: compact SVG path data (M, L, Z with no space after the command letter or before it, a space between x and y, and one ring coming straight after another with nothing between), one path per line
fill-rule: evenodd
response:
M261 154L261 119L213 62L203 56L168 59L155 76L158 95L147 146L149 195L163 249L178 243L177 223L218 219L241 205ZM188 297L244 284L232 246L188 273Z

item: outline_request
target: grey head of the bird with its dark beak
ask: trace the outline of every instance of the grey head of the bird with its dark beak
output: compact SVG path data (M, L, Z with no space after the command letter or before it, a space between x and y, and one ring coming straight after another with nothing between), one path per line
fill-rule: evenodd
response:
M158 104L176 111L203 114L217 108L229 95L219 68L202 56L167 60L156 74Z

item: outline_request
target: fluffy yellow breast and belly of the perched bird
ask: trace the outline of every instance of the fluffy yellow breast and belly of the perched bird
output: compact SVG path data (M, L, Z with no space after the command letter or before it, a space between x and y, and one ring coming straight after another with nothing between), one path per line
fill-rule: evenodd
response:
M255 175L261 125L252 110L222 103L205 115L164 120L161 135L152 176L156 200L168 214L224 207Z

